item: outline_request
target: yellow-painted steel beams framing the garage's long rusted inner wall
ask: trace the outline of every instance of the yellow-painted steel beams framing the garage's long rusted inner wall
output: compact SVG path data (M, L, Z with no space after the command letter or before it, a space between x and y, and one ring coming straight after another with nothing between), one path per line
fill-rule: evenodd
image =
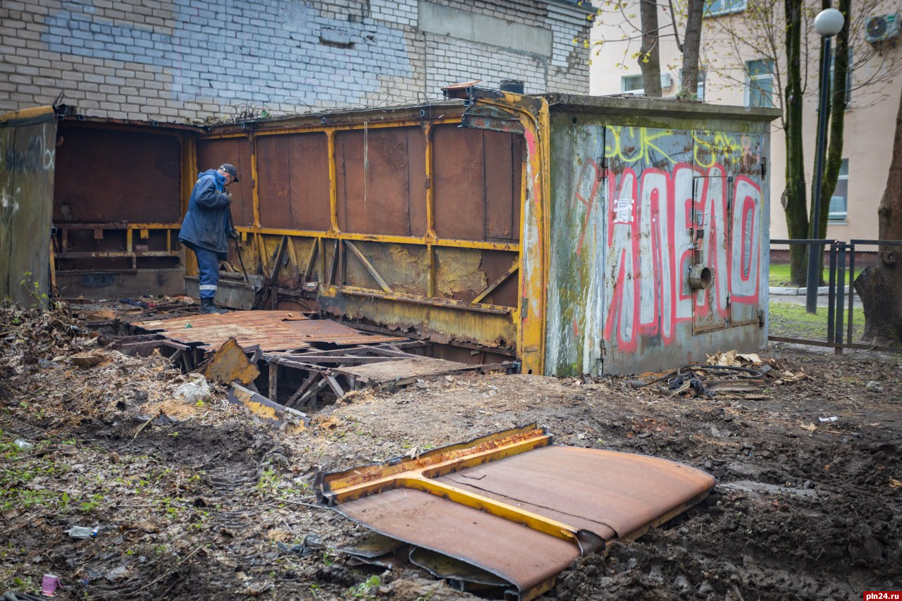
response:
M252 144L251 159L251 177L254 181L258 178L257 156L255 152L255 139L262 135L276 134L296 134L299 132L314 133L322 132L327 136L327 153L328 153L328 178L329 178L329 209L330 209L330 227L328 231L309 231L283 229L274 227L262 227L260 223L260 197L257 186L253 187L253 225L250 227L237 227L241 232L242 238L247 240L253 238L250 247L244 247L243 253L253 252L253 249L259 253L262 272L269 275L269 254L267 254L265 238L269 236L290 236L291 238L314 238L315 247L318 249L318 267L319 273L324 274L324 282L320 282L319 294L336 298L336 296L345 293L353 293L356 295L364 294L364 291L347 287L341 284L344 282L332 282L331 276L327 273L328 265L326 262L325 243L327 240L336 241L336 249L344 252L342 241L371 241L384 244L398 245L419 245L426 249L427 257L427 294L426 297L415 297L410 294L400 294L392 292L391 288L386 290L386 286L382 286L381 290L369 291L365 293L373 294L379 298L389 301L399 301L404 303L419 303L424 305L439 305L446 308L469 311L494 312L509 315L511 324L516 328L516 346L518 356L520 356L522 370L528 373L543 373L544 356L545 356L545 307L546 307L546 287L548 274L548 219L546 203L549 198L549 178L548 178L548 103L545 99L541 99L541 109L538 113L530 111L528 108L520 104L520 96L511 93L503 93L500 98L483 99L480 98L476 102L502 107L519 116L526 137L526 169L523 170L523 180L521 182L520 196L520 243L496 243L483 240L457 240L439 238L435 230L435 196L432 182L433 177L433 147L432 147L432 131L436 125L458 124L461 121L461 109L449 107L448 115L432 119L417 119L411 117L403 118L386 118L385 116L353 116L353 123L308 123L299 125L289 125L273 129L265 129L259 131L232 130L228 132L217 132L208 134L203 139L226 139L233 137L249 136ZM343 117L336 117L343 118ZM348 117L350 119L352 117ZM382 236L372 234L357 234L354 232L344 232L338 227L338 202L336 187L336 134L342 131L361 130L364 128L382 128L382 127L404 127L404 126L421 126L425 130L427 136L426 143L426 212L427 212L427 229L424 236ZM193 143L193 141L191 142ZM193 148L191 150L194 150ZM196 156L195 152L190 156ZM186 182L193 182L194 173L197 172L196 164L185 164ZM190 194L190 186L186 185L186 199ZM187 201L187 200L186 200ZM529 242L527 242L529 241ZM297 258L294 257L293 245L290 247L290 259L292 264L299 272L307 273L308 270L304 266L297 264ZM488 291L484 291L473 302L448 301L446 299L436 298L437 289L437 262L435 253L437 248L468 248L474 250L493 250L503 251L516 254L516 259L512 261L511 269L502 277L502 280L495 282L499 285L504 279L516 275L519 278L518 289L520 290L520 300L518 306L502 307L496 305L487 305L480 301L485 298ZM188 257L190 264L188 265L189 273L196 272L196 264L193 257ZM313 257L311 256L311 264ZM245 261L245 264L250 262ZM278 266L273 266L278 269ZM390 284L391 282L389 282ZM323 285L325 284L325 285ZM474 339L479 339L478 335Z

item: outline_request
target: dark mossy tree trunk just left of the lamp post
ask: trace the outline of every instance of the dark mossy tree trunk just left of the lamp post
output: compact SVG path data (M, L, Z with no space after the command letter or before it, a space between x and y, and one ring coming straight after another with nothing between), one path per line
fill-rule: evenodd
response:
M783 210L787 234L792 239L808 236L805 194L805 153L802 145L802 0L784 0L786 9L787 83L785 88L787 187ZM807 249L793 245L789 254L789 277L797 285L807 278Z

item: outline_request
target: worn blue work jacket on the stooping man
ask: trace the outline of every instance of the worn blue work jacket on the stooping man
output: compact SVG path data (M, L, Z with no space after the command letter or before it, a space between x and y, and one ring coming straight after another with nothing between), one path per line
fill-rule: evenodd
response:
M181 222L179 241L190 249L206 248L225 259L228 254L226 233L231 224L229 197L224 184L226 178L215 169L198 175L198 182L191 190L188 212Z

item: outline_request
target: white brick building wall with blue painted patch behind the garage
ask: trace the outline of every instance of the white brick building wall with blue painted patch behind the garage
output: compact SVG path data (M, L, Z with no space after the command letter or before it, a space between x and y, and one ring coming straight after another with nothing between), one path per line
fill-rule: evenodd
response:
M0 111L183 123L441 96L482 79L589 91L570 0L5 0Z

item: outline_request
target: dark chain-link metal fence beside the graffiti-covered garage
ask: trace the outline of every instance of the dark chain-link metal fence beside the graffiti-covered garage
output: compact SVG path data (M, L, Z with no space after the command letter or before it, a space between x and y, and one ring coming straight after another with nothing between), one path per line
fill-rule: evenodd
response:
M813 251L821 269L809 271ZM769 339L902 353L900 270L881 252L902 254L902 240L771 240Z

